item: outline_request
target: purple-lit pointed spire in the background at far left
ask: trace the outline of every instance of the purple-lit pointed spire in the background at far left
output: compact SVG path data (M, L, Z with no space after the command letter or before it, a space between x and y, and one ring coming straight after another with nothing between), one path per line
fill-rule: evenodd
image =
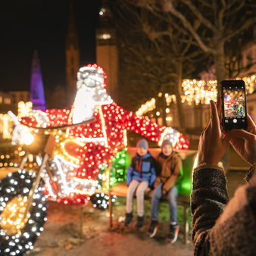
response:
M45 110L45 92L42 82L42 71L36 50L33 54L31 67L30 101L33 103L33 109Z

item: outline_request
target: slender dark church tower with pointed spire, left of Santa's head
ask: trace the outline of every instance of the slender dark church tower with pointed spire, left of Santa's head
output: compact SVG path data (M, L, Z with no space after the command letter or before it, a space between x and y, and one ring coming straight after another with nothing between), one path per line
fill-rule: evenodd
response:
M80 52L73 13L73 5L71 3L66 39L67 107L73 104L76 95L76 73L80 68Z

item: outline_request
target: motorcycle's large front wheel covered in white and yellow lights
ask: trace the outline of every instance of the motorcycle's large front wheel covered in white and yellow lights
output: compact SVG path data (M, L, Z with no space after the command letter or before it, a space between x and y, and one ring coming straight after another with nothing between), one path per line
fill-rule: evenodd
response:
M0 182L1 255L18 255L33 249L33 243L43 231L43 224L47 220L47 201L41 187L33 195L27 217L22 220L19 216L24 213L33 179L33 172L19 170L8 173Z

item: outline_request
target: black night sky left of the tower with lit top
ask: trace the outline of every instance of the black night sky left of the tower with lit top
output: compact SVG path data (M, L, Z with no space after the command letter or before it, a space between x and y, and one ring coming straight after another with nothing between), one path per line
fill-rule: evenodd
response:
M65 86L65 39L69 0L2 2L0 90L29 90L33 51L39 54L45 87ZM95 62L95 27L100 0L74 0L80 65Z

